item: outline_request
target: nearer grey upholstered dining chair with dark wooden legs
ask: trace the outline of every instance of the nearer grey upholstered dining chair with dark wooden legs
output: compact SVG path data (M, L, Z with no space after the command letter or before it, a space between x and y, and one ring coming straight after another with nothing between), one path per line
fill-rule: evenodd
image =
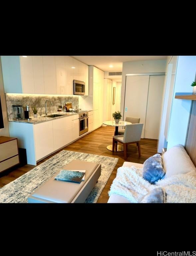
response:
M113 136L112 141L112 152L114 152L115 141L123 144L124 159L127 159L127 146L128 144L136 143L138 147L139 157L141 156L140 151L140 139L142 133L143 123L140 124L128 124L125 126L124 135Z

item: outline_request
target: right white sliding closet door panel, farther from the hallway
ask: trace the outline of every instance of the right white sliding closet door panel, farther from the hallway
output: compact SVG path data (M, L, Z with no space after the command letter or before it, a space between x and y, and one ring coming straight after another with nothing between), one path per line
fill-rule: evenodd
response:
M144 138L158 139L165 76L150 76Z

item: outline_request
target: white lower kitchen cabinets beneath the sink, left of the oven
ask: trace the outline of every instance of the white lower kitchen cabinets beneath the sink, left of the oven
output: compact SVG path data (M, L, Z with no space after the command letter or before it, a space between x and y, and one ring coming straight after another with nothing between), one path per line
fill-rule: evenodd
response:
M79 115L62 117L39 124L9 122L11 137L27 152L27 163L36 165L54 151L79 138Z

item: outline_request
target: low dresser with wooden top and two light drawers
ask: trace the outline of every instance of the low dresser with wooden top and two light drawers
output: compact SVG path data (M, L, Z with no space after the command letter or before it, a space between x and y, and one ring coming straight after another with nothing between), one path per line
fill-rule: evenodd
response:
M19 163L17 138L0 136L0 172Z

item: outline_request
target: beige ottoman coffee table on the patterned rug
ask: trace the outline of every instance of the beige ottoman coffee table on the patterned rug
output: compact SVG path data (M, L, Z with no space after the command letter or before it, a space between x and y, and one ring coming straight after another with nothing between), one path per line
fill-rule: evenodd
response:
M59 170L28 197L28 203L84 203L101 175L101 164L72 160L62 169L86 170L85 181L80 184L57 181Z

